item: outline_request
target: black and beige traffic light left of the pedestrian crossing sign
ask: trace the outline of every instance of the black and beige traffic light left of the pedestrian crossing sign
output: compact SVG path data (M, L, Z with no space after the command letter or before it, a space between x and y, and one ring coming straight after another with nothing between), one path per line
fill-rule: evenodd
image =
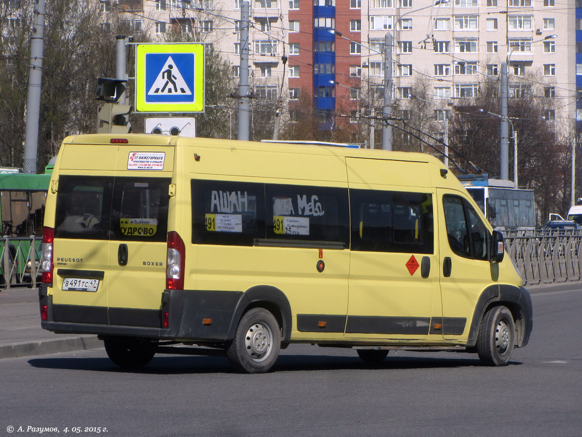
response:
M97 133L129 133L132 131L129 114L132 113L133 106L117 103L119 96L125 91L125 82L127 80L97 78L97 100L105 102L97 116Z

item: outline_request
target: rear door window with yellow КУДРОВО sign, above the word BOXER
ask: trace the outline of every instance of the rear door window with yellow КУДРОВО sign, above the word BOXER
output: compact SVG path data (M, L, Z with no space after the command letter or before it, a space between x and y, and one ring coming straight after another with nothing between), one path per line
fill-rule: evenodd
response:
M166 241L170 178L115 178L111 239Z

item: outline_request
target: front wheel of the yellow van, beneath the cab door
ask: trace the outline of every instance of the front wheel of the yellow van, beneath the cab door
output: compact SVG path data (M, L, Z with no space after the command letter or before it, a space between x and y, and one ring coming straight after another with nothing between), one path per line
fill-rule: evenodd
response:
M488 366L506 366L515 344L515 324L505 306L489 309L481 320L477 336L477 353Z

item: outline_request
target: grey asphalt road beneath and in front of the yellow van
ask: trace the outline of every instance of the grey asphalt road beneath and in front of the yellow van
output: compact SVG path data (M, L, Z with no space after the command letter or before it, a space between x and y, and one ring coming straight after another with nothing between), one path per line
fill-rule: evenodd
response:
M400 351L370 368L307 345L264 375L169 355L125 372L104 350L0 360L0 437L580 436L582 283L531 291L530 344L503 368Z

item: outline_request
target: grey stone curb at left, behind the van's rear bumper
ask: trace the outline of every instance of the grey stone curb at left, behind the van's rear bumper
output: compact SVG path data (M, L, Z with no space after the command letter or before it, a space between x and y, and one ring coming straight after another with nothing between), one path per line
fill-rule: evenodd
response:
M67 337L57 340L29 341L27 343L0 346L0 358L31 357L33 355L56 354L88 349L99 349L103 342L97 336Z

